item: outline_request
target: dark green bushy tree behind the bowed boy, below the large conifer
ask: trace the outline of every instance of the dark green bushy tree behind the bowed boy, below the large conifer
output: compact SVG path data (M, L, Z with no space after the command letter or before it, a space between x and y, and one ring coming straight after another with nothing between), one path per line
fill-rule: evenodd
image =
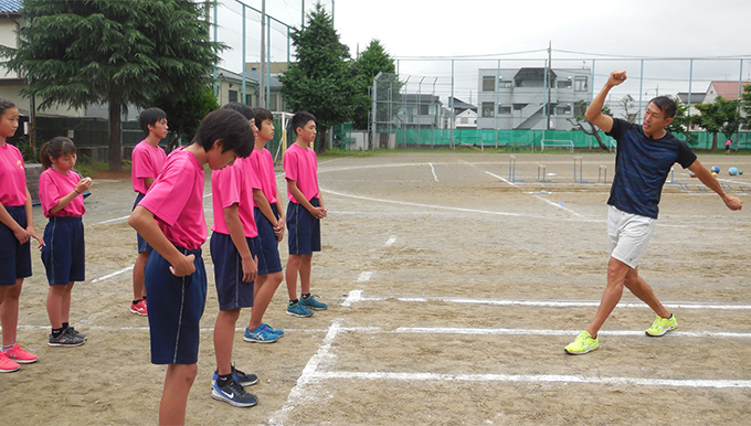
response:
M195 86L180 97L161 94L152 97L149 105L159 107L167 114L167 152L179 147L183 138L192 139L203 117L219 109L216 97L209 85Z

